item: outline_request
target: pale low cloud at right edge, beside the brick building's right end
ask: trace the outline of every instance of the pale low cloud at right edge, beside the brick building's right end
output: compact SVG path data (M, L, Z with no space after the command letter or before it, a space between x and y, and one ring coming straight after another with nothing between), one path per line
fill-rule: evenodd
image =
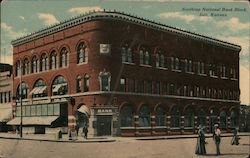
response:
M240 101L241 104L246 104L246 105L250 105L249 103L249 72L250 70L247 69L246 67L240 65L240 91L241 91L241 95L240 95Z

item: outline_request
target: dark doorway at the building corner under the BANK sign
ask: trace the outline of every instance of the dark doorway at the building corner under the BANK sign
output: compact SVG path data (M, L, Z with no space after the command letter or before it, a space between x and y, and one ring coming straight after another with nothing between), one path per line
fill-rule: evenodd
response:
M97 136L109 136L111 135L111 115L99 115L97 116Z

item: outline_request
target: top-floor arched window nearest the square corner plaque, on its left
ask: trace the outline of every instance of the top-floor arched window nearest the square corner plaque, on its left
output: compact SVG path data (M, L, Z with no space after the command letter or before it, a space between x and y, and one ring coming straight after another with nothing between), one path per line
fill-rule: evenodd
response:
M77 64L86 63L88 61L88 49L84 42L77 47Z

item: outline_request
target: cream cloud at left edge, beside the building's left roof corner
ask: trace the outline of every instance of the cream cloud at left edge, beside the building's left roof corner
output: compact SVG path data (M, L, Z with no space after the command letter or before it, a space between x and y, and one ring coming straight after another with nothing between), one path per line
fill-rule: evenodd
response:
M15 38L18 38L18 37L21 37L21 36L24 36L25 34L27 34L27 29L23 29L23 31L14 31L13 30L13 27L8 25L7 23L5 22L2 22L1 23L1 29L3 31L6 32L6 35L8 37L10 37L11 39L15 39Z

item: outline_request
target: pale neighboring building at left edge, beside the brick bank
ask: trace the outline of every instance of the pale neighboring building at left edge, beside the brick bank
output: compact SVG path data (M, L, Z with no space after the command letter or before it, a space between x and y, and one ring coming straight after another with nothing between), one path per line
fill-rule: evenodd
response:
M12 119L12 66L0 63L0 132L11 130L6 123Z

